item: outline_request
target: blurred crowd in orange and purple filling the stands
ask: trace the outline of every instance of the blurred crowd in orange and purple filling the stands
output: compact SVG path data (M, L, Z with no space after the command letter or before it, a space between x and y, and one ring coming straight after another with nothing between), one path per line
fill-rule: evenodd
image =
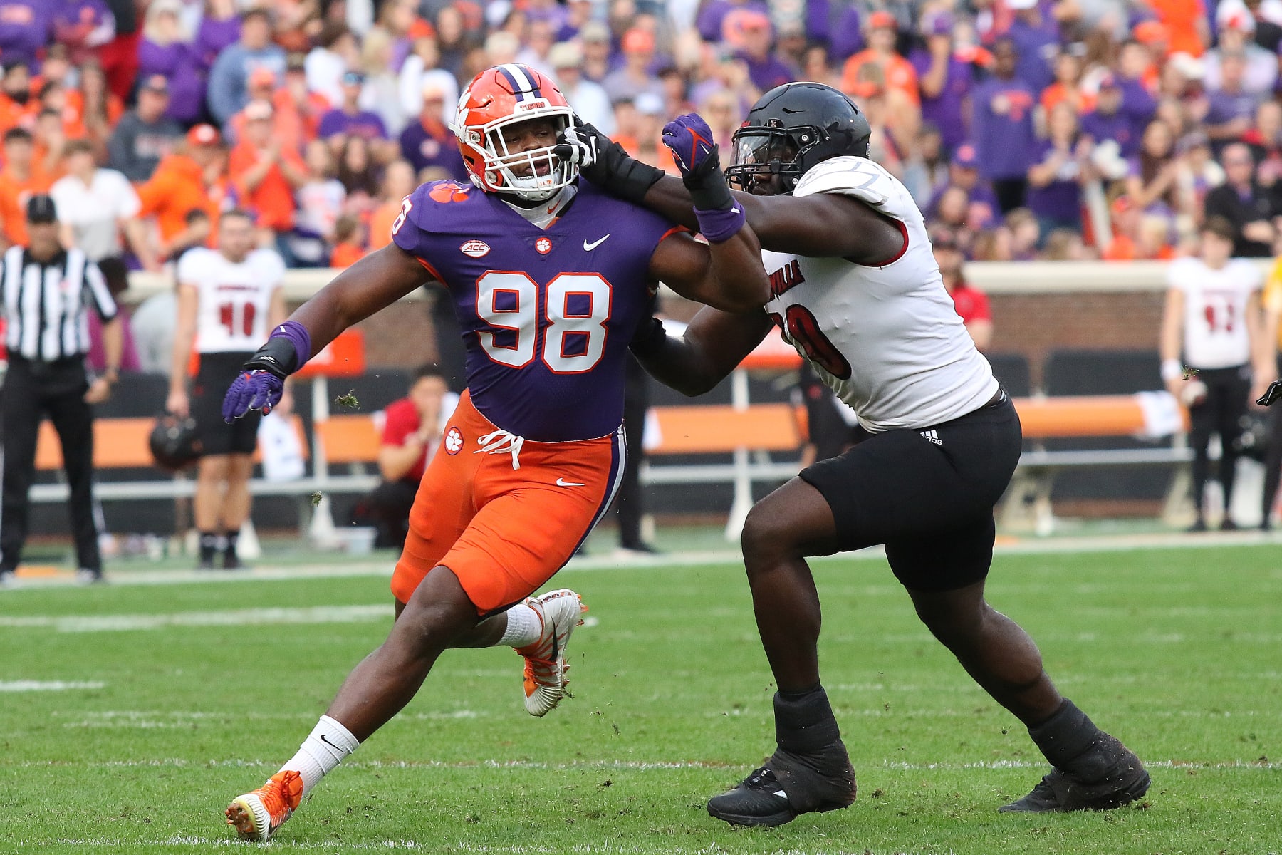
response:
M838 86L968 259L1170 258L1206 212L1264 256L1279 44L1282 0L0 0L0 220L22 242L50 191L64 240L155 269L238 206L342 267L417 182L467 181L459 91L519 62L660 167L670 117L728 151L760 92Z

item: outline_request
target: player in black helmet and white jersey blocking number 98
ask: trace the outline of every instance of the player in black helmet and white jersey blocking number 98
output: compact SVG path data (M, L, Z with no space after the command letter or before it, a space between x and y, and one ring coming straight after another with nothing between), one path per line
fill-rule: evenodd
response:
M664 128L676 151L706 147L697 115ZM1028 727L1054 769L1001 810L1118 808L1149 788L1138 758L1063 697L1032 638L983 597L992 508L1019 460L1019 418L944 288L920 212L868 159L868 120L820 83L788 83L735 133L735 203L765 250L764 311L701 309L682 338L651 322L633 353L658 379L700 395L778 324L859 417L862 441L756 504L742 547L774 673L777 750L708 811L779 826L855 799L855 773L819 682L819 599L809 555L886 545L918 617ZM567 132L581 170L623 199L695 226L681 182L591 126Z

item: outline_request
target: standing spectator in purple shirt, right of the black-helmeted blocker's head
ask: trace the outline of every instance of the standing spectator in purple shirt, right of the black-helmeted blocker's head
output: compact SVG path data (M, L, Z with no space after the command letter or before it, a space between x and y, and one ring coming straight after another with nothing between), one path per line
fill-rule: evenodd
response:
M994 76L976 87L970 100L979 173L992 182L1003 214L1023 208L1033 146L1033 91L1015 77L1015 45L994 45Z

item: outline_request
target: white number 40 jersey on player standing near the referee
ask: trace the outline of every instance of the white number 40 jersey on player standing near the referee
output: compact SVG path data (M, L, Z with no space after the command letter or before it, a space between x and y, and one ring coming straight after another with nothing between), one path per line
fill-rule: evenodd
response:
M238 264L210 249L194 249L178 261L178 282L200 292L196 351L254 351L267 340L272 292L285 279L285 261L254 250Z

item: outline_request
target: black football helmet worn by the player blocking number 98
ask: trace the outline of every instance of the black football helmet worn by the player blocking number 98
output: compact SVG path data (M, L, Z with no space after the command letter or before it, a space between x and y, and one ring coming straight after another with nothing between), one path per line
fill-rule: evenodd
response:
M788 195L831 158L868 156L872 128L845 94L823 83L785 83L763 95L735 132L726 178L760 196Z

